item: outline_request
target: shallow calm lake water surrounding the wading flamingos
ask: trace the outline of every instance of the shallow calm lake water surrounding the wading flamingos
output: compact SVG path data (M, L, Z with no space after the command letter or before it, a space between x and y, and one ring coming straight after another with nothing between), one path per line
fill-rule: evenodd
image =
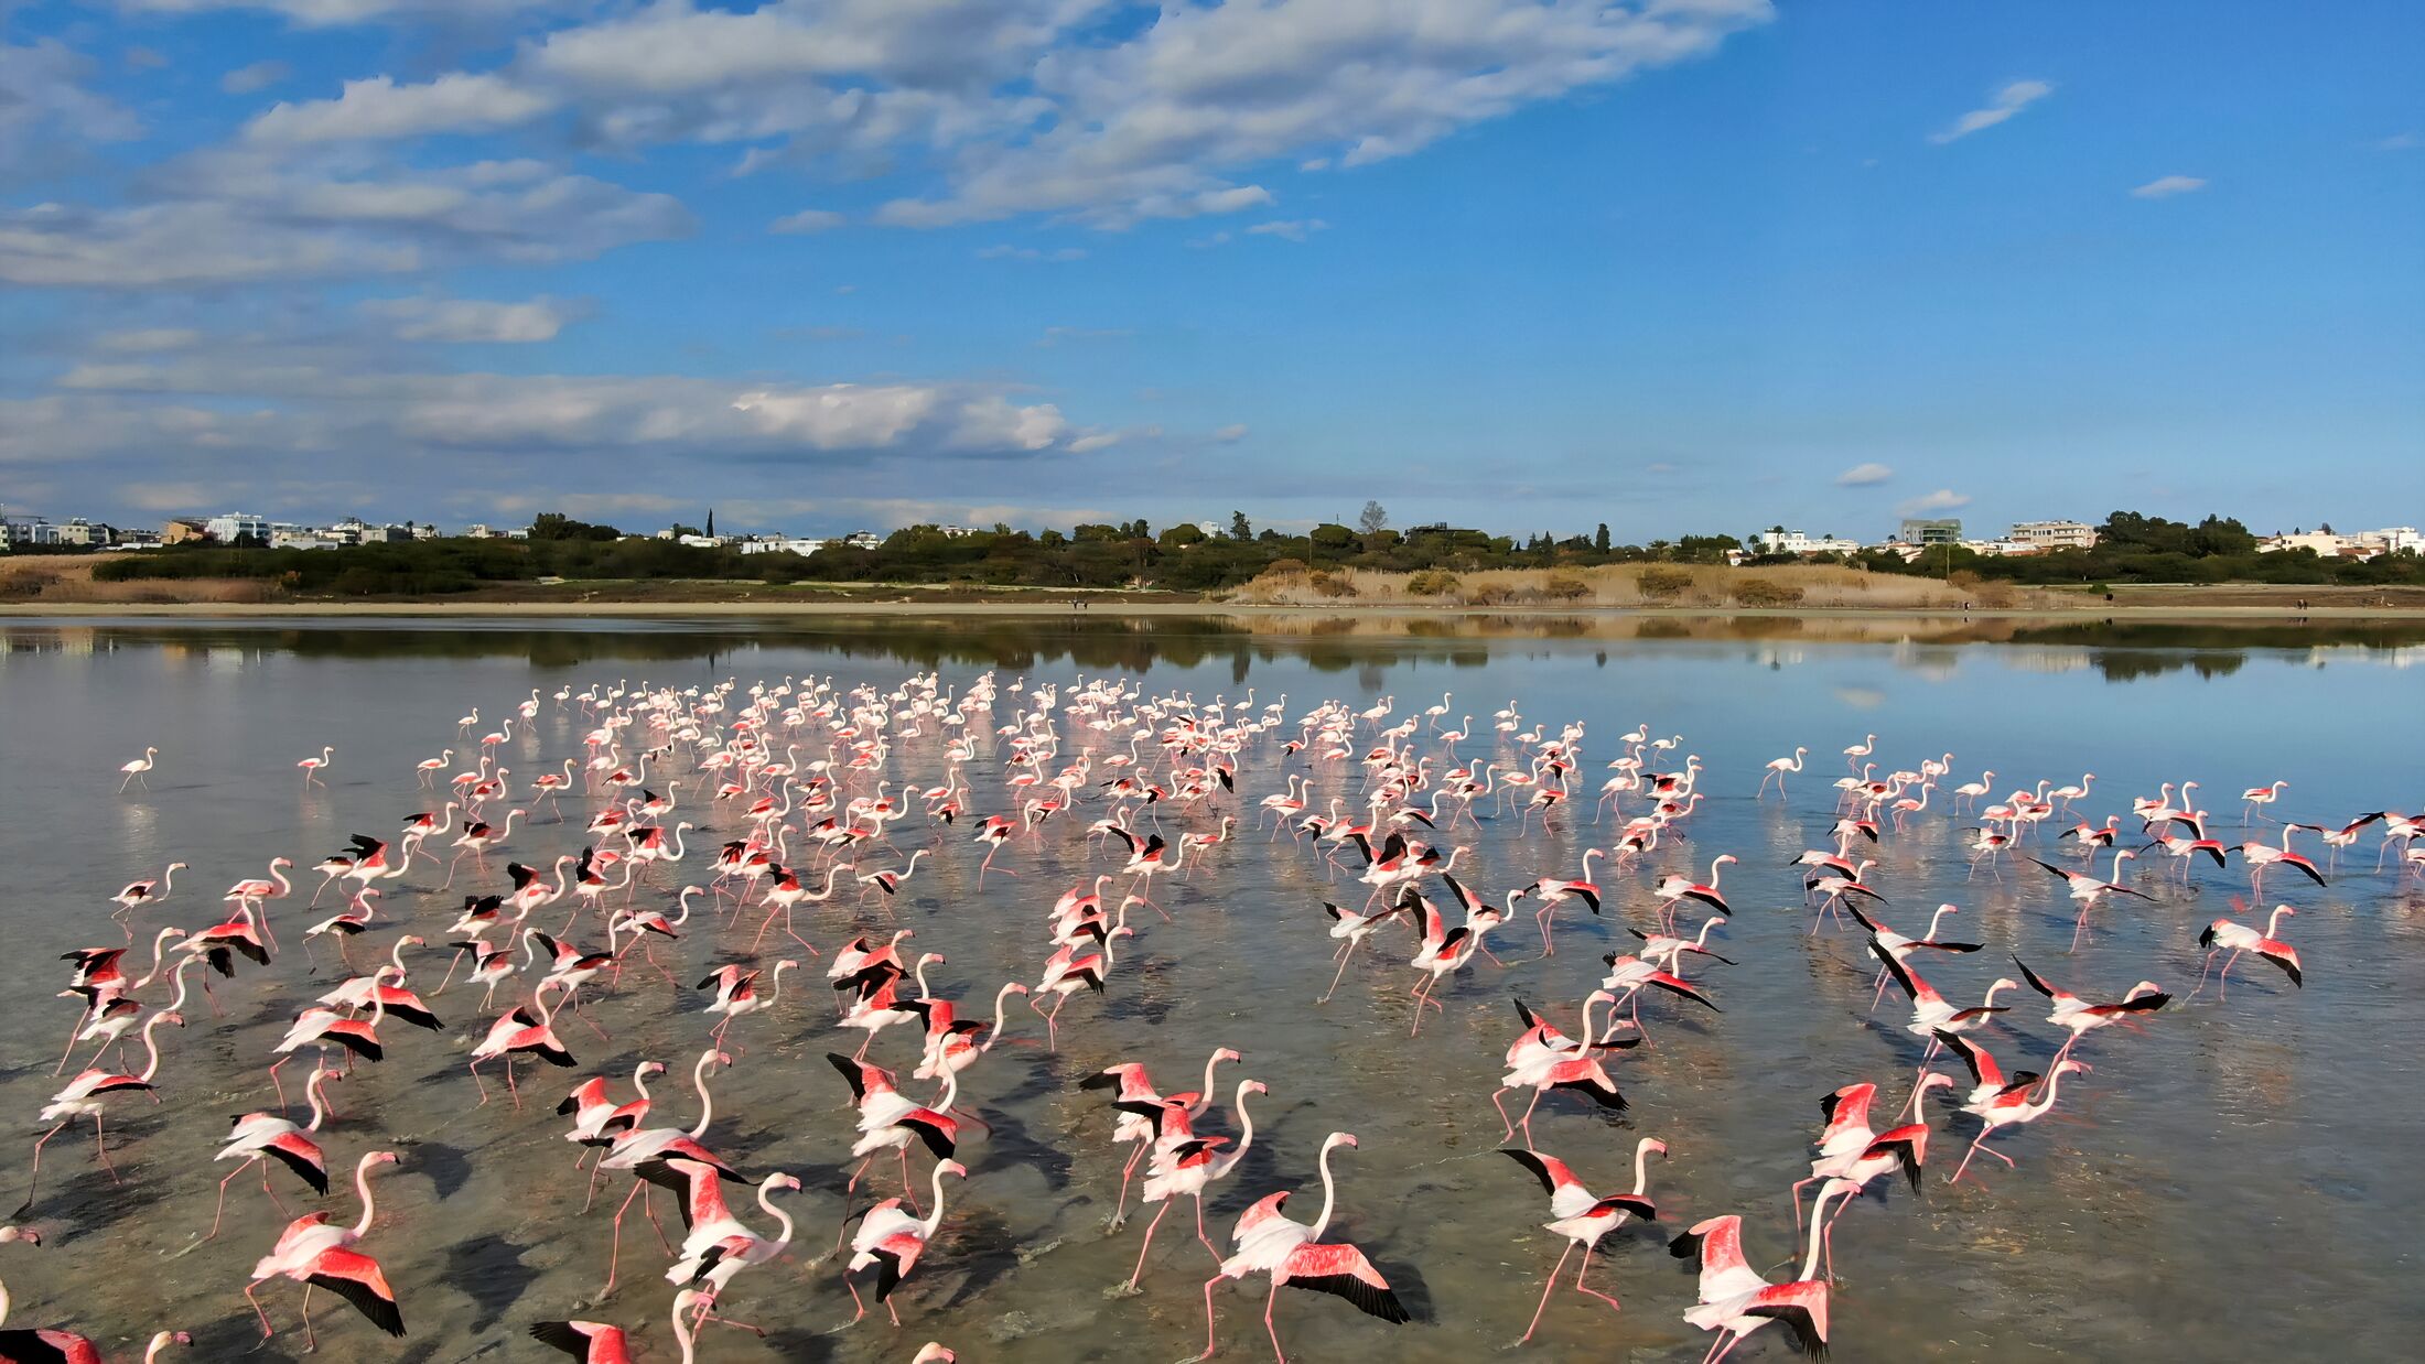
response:
M800 1219L800 1250L744 1272L725 1294L723 1311L769 1328L771 1337L708 1328L698 1357L907 1362L926 1340L975 1362L1193 1354L1203 1345L1200 1284L1210 1257L1186 1207L1164 1221L1142 1294L1106 1291L1125 1279L1142 1219L1116 1236L1103 1228L1125 1148L1111 1144L1113 1114L1099 1093L1079 1090L1079 1078L1113 1061L1145 1061L1162 1088L1196 1088L1215 1047L1234 1047L1244 1064L1222 1076L1225 1097L1208 1127L1234 1131L1227 1105L1234 1081L1256 1078L1271 1093L1249 1105L1256 1129L1246 1160L1208 1199L1212 1236L1222 1240L1239 1209L1276 1190L1297 1190L1293 1211L1312 1216L1322 1139L1353 1131L1360 1146L1336 1156L1331 1238L1360 1245L1416 1316L1392 1328L1331 1296L1283 1294L1278 1323L1290 1357L1390 1352L1409 1364L1496 1357L1523 1333L1562 1248L1540 1228L1550 1219L1540 1187L1494 1153L1501 1119L1489 1095L1501 1051L1520 1032L1511 1001L1545 1005L1571 1030L1576 1001L1603 972L1600 955L1632 950L1625 928L1654 923L1649 884L1664 872L1697 879L1712 855L1734 853L1741 862L1724 877L1734 918L1712 947L1736 964L1690 969L1724 1013L1647 998L1642 1018L1654 1047L1613 1066L1630 1110L1605 1114L1552 1095L1533 1122L1540 1148L1600 1192L1630 1187L1639 1136L1664 1139L1668 1158L1654 1160L1649 1180L1661 1221L1613 1233L1593 1260L1593 1286L1622 1299L1625 1311L1559 1289L1530 1354L1700 1359L1707 1337L1681 1320L1693 1303L1690 1265L1668 1257L1666 1236L1739 1211L1753 1265L1799 1262L1785 1190L1807 1173L1819 1095L1877 1081L1901 1100L1918 1059L1891 991L1870 1013L1875 969L1860 935L1833 925L1811 935L1799 872L1785 865L1804 848L1828 846L1836 795L1828 783L1845 773L1838 756L1845 744L1875 732L1879 770L1952 753L1947 787L1981 768L1996 770L1998 792L2039 780L2064 785L2093 770L2078 814L2095 821L2127 816L2129 800L2153 795L2158 783L2197 780L2216 833L2231 843L2243 838L2236 795L2260 783L2289 780L2272 814L2335 826L2425 802L2418 778L2425 644L2398 627L2345 627L2330 637L2098 627L1860 632L1826 640L1824 630L1794 623L1681 625L1651 637L1588 623L1455 625L1428 637L1307 623L1244 632L1217 620L0 623L7 783L0 923L17 957L17 969L0 974L0 1010L10 1020L0 1042L0 1110L17 1114L19 1134L19 1146L0 1160L17 1180L7 1197L19 1197L27 1175L24 1153L39 1134L34 1112L63 1083L51 1066L75 1003L53 998L68 984L56 957L124 940L107 896L170 860L189 865L165 904L133 916L131 957L148 957L158 925L218 921L218 892L259 875L272 855L308 867L354 831L393 836L403 816L434 804L415 785L417 761L456 749L453 770L468 766L466 749L478 744L458 737L456 720L475 705L485 732L531 688L546 698L616 683L711 688L732 678L747 688L829 676L844 690L861 683L892 690L931 669L953 695L992 674L1002 695L989 724L1009 724L1028 705L1014 683L1060 683L1067 700L1079 678L1128 678L1147 698L1191 695L1198 707L1225 698L1232 712L1249 693L1256 712L1285 698L1288 724L1239 753L1237 797L1217 804L1242 814L1246 829L1186 877L1157 879L1152 894L1174 923L1152 913L1130 918L1137 938L1123 945L1103 998L1079 996L1067 1005L1057 1054L1043 1049L1038 1018L1014 998L1009 1039L963 1088L992 1134L963 1131L970 1177L948 1185L929 1257L895 1299L900 1330L880 1311L844 1328L851 1299L839 1262L815 1262L834 1240L851 1168L849 1090L822 1054L858 1044L856 1032L834 1027L824 959L788 976L776 1010L735 1025L747 1056L715 1081L708 1144L749 1175L800 1175L805 1192L786 1199ZM1533 916L1520 911L1494 935L1506 967L1484 959L1450 976L1440 986L1445 1013L1409 1039L1414 976L1402 930L1375 938L1336 998L1314 1003L1331 976L1319 906L1360 904L1365 892L1310 843L1288 833L1266 841L1254 829L1254 802L1278 792L1288 775L1310 773L1317 804L1343 797L1358 807L1363 770L1353 761L1310 766L1307 753L1285 756L1280 739L1326 698L1356 710L1394 698L1397 720L1421 715L1443 693L1453 693L1450 722L1472 717L1474 739L1457 746L1457 758L1518 756L1520 746L1491 729L1491 715L1511 700L1528 727L1537 722L1550 734L1567 722L1586 724L1579 797L1547 829L1482 802L1479 826L1457 824L1440 838L1470 848L1462 879L1494 901L1540 875L1571 877L1581 848L1608 846L1613 829L1593 809L1593 795L1634 724L1661 739L1683 737L1673 751L1654 753L1651 766L1673 768L1695 753L1707 800L1681 826L1685 838L1639 867L1600 867L1605 916L1559 909L1554 957L1540 955ZM735 693L723 720L744 700ZM497 751L514 773L517 804L529 804L529 778L587 753L582 734L592 724L580 707L553 700L543 700L534 724L517 722ZM1096 734L1072 717L1060 717L1060 761L1084 746L1101 761L1130 741L1128 724ZM1373 741L1373 727L1358 734ZM150 790L116 795L116 766L146 744L160 746ZM306 790L293 763L323 744L337 749L327 787ZM798 744L808 761L824 753L827 737L778 732L774 746L786 744ZM941 744L929 727L926 737L895 744L875 775L892 790L934 785L943 773ZM1436 756L1433 770L1450 766L1421 727L1411 744ZM1797 744L1811 758L1790 778L1790 800L1753 800L1761 766ZM912 812L892 826L900 855L934 848L897 899L846 887L827 906L803 906L803 938L832 952L858 930L917 928L912 947L948 957L929 976L936 993L970 1013L989 1013L1002 981L1033 984L1050 955L1043 916L1052 899L1113 870L1118 858L1086 843L1084 824L1103 807L1082 804L1040 838L1011 843L980 889L982 848L970 838L977 816L1014 804L1004 753L997 737L977 737L977 753L963 768L972 790L960 824L938 831ZM1096 780L1111 775L1096 770ZM655 766L650 778L657 790L679 783L679 809L667 824L694 821L686 860L640 892L640 904L672 911L672 892L706 882L715 843L742 836L744 821L694 785L689 753ZM432 938L432 947L407 957L410 984L432 998L446 1027L434 1035L383 1027L386 1061L337 1085L347 1117L323 1139L332 1173L352 1170L359 1153L378 1146L403 1153L378 1177L378 1223L364 1250L386 1265L410 1335L390 1342L344 1303L318 1296L323 1357L536 1359L546 1349L524 1337L526 1325L577 1316L638 1328L650 1359L674 1359L664 1255L643 1223L626 1223L623 1286L589 1303L604 1282L609 1214L623 1185L604 1185L601 1207L582 1214L584 1175L572 1170L575 1148L553 1110L582 1076L614 1076L626 1093L638 1061L662 1059L674 1076L657 1085L655 1119L686 1127L696 1114L686 1073L713 1022L701 1013L706 996L669 988L635 962L618 988L589 1005L611 1042L560 1020L580 1066L521 1066L521 1112L502 1093L475 1107L463 1051L487 1022L478 993L458 984L429 996L449 959L436 940L463 887L504 889L507 858L546 865L577 853L582 816L599 804L599 797L565 797L563 821L538 807L492 855L485 882L466 862L456 889L444 892L444 867L424 862L383 884L378 909L390 918L354 942L354 959L383 957L400 930ZM1639 807L1639 795L1627 797L1627 814ZM1176 841L1181 829L1210 829L1212 814L1171 809L1162 829ZM2418 1068L2425 887L2396 862L2374 872L2374 831L2343 858L2345 875L2328 887L2272 875L2263 906L2299 909L2284 935L2304 955L2306 986L2292 988L2270 967L2243 962L2229 1001L2212 986L2187 1001L2202 957L2199 928L2216 916L2263 916L2263 906L2231 909L2248 892L2238 858L2229 870L2197 870L2187 887L2166 879L2170 867L2153 865L2163 858L2134 865L2134 884L2156 904L2095 911L2093 935L2071 955L2073 921L2052 877L2010 862L2001 879L1988 872L1967 879L1967 824L1945 809L1940 787L1906 831L1889 829L1877 848L1860 853L1879 860L1870 882L1889 899L1879 913L1896 928L1918 933L1933 906L1952 901L1962 913L1947 921L1947 935L1986 942L1972 957L1918 962L1947 996L1976 1001L1993 976L2015 974L2010 955L2020 952L2083 996L2119 998L2132 981L2153 979L2182 998L2144 1030L2105 1030L2081 1044L2095 1071L2066 1083L2052 1117L1996 1139L2018 1170L1981 1158L1972 1168L1984 1182L1947 1187L1945 1173L1976 1124L1942 1095L1933 1100L1925 1197L1899 1180L1879 1182L1838 1223L1838 1357L2408 1357L2425 1330L2425 1294L2415 1291L2425 1253L2415 1231L2425 1223L2425 1175L2415 1173L2425 1131ZM2032 850L2076 865L2054 833L2056 826L2044 826ZM2275 826L2260 824L2260 833L2272 838ZM2323 853L2313 836L2301 846ZM861 865L900 865L900 855L875 848ZM795 860L820 865L808 853ZM2107 865L2110 858L2098 858L2100 872ZM325 945L318 969L303 955L303 928L337 909L335 896L320 911L303 909L315 882L303 872L298 894L269 906L284 952L269 969L218 981L223 1018L196 998L189 1027L162 1035L162 1102L136 1097L114 1107L109 1141L124 1185L95 1163L90 1127L73 1127L48 1146L41 1199L24 1219L48 1245L0 1248L0 1279L15 1294L10 1325L73 1325L109 1357L129 1359L155 1328L192 1330L204 1359L255 1347L240 1289L284 1216L247 1175L230 1187L228 1231L194 1245L226 1173L211 1165L211 1151L228 1114L274 1105L264 1078L269 1047L310 993L342 976ZM1438 882L1431 889L1440 894ZM558 906L534 923L555 930L563 916ZM660 945L657 955L689 986L711 964L747 955L754 930L757 916L730 933L694 916L684 940ZM599 947L604 935L584 923L572 938ZM764 957L778 950L803 955L776 933ZM1986 1044L2008 1066L2042 1064L2061 1039L2044 1022L2044 1003L2032 993L2001 1003L2018 1008L1981 1035ZM133 1059L141 1064L141 1049ZM907 1076L917 1037L890 1030L871 1059ZM291 1093L303 1071L308 1061L289 1068ZM919 1197L929 1163L924 1151L914 1153ZM344 1175L332 1177L320 1204L284 1170L274 1180L293 1211L327 1207L340 1221L354 1216ZM897 1192L890 1165L878 1165L871 1180L878 1192ZM754 1207L742 1216L769 1226ZM1569 1279L1571 1272L1569 1262ZM301 1352L298 1294L286 1282L262 1291L279 1335L257 1359ZM1225 1359L1268 1357L1261 1296L1261 1279L1215 1296ZM1768 1330L1734 1357L1785 1352L1782 1333Z

